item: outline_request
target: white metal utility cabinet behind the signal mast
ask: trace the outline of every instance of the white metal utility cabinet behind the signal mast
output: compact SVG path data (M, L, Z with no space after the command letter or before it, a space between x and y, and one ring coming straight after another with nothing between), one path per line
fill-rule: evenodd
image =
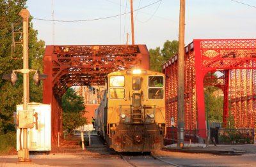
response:
M17 115L23 112L23 105L17 105ZM29 151L50 151L51 150L51 105L42 103L28 103L28 110L33 111L33 128L28 128L28 149ZM20 116L21 119L22 116ZM18 118L19 119L19 118ZM19 127L19 125L18 125ZM20 139L21 138L21 139ZM17 128L17 150L20 150L20 143L23 144L23 132ZM21 140L21 141L20 141Z

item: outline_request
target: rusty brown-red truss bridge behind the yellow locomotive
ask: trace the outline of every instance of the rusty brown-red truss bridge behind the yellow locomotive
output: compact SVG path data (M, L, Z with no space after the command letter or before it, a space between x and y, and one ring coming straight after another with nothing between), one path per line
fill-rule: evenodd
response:
M52 144L62 134L61 96L76 85L105 85L113 71L140 67L149 69L145 45L46 46L43 101L52 107Z

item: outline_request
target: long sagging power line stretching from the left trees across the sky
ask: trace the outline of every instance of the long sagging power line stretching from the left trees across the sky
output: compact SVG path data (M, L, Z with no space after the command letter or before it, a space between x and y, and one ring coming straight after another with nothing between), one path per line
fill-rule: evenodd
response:
M138 10L141 10L143 8L147 8L148 6L156 4L156 3L160 2L160 1L162 1L162 0L159 0L159 1L156 1L154 3L148 4L147 6L144 6L142 8L138 8L138 9L136 9L134 11L138 11ZM128 13L131 13L131 11L125 12L125 13L122 13L122 14L119 14L119 15L113 15L113 16L101 17L101 18L92 18L92 19L86 19L86 20L50 20L50 19L44 19L44 18L34 18L34 19L35 20L42 20L42 21L49 21L49 22L88 22L88 21L104 20L104 19L107 19L107 18L119 17L120 15L126 15Z

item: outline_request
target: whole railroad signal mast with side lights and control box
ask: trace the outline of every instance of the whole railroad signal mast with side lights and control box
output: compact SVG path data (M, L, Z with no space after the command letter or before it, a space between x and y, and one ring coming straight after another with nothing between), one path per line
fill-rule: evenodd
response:
M23 140L17 141L20 143L20 149L18 150L18 161L22 163L30 162L29 150L28 150L28 128L33 128L34 124L37 126L37 113L34 110L28 110L29 103L29 72L35 72L33 77L36 85L40 84L40 80L47 78L47 75L40 75L40 72L35 69L29 69L28 64L28 22L29 22L29 11L22 9L19 13L23 20L23 68L12 70L12 73L3 75L4 80L10 80L12 85L17 82L17 73L23 73L23 110L20 110L17 117L17 127L20 129L20 134L23 133ZM13 31L14 32L14 31ZM21 44L20 44L21 45ZM15 41L13 40L13 45L15 46ZM34 122L34 117L36 122ZM21 145L21 141L23 145Z

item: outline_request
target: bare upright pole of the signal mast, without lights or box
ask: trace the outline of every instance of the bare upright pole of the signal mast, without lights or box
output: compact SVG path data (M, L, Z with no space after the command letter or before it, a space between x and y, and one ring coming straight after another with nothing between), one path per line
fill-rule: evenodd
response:
M29 68L28 68L28 17L29 11L23 9L20 11L19 15L23 19L23 110L28 110L29 102ZM22 148L22 158L19 158L20 162L29 162L29 150L28 150L28 128L23 129L23 148ZM20 146L21 147L21 146ZM19 154L19 152L18 152Z

